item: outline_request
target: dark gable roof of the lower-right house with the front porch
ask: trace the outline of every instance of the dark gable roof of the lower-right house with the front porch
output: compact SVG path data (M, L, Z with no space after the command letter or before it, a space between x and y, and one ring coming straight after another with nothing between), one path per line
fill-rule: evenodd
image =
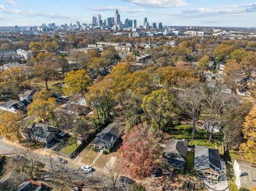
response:
M204 170L211 168L220 175L221 163L218 149L195 146L195 169Z

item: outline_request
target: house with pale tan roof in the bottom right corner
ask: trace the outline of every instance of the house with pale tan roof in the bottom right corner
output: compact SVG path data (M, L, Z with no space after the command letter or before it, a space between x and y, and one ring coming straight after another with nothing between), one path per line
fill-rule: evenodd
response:
M256 164L236 159L234 162L234 173L238 188L256 188Z

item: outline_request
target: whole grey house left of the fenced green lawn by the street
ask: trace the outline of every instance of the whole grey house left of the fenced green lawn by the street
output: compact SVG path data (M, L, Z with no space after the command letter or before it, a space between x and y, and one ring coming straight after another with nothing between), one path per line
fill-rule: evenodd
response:
M57 127L45 123L34 123L28 131L28 138L40 143L50 143L59 133Z

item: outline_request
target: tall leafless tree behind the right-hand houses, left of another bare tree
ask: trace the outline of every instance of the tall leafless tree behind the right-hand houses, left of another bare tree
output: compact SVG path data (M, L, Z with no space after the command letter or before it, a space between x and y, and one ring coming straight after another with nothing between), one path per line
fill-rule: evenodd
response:
M178 93L179 105L183 113L187 114L192 120L192 139L193 143L196 131L196 123L199 119L202 105L202 95L200 93L201 84L194 84L188 88L183 88Z

